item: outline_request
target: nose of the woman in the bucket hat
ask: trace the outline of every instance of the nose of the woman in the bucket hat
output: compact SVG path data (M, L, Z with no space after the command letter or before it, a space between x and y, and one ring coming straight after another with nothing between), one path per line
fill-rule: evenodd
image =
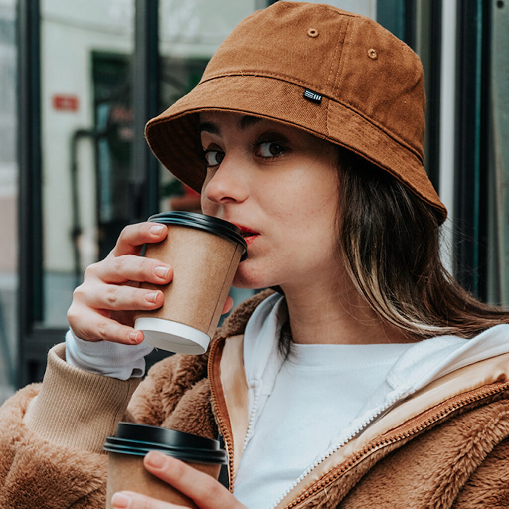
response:
M241 203L248 196L245 169L234 157L225 155L221 163L210 168L202 187L202 199L216 205Z

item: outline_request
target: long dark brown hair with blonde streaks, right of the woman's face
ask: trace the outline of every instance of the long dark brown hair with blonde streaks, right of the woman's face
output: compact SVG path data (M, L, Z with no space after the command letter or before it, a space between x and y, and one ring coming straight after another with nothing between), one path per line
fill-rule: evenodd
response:
M338 148L338 250L377 314L412 336L473 337L501 322L444 268L435 209L373 163Z

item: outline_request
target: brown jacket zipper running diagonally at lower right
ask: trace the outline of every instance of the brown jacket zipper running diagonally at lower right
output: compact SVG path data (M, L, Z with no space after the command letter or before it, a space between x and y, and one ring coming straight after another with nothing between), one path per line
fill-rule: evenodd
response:
M509 388L509 382L501 383L501 385L498 385L496 388L492 389L475 389L474 391L470 392L470 396L467 398L461 398L461 395L458 397L455 397L453 401L445 408L441 409L438 413L431 417L427 417L423 422L417 422L415 425L411 425L408 429L405 429L404 431L401 431L397 435L394 435L392 437L387 437L379 442L375 442L374 444L371 444L369 446L366 446L364 449L362 449L358 454L355 455L355 457L350 460L349 463L346 465L343 465L341 468L335 468L328 474L326 474L324 477L322 477L320 480L318 480L316 483L314 483L312 486L310 486L303 494L296 497L294 500L289 502L287 505L285 505L284 509L292 509L292 507L295 507L297 504L301 504L306 500L306 498L310 497L314 493L316 493L318 490L322 490L324 488L327 488L328 485L330 485L335 479L342 476L345 472L350 470L352 467L354 467L356 464L360 463L365 456L374 453L374 451L381 449L383 447L386 447L388 445L391 445L395 442L398 442L400 440L403 440L411 435L414 435L416 433L422 432L432 424L440 421L441 419L445 418L447 415L449 415L451 412L466 406L470 403L474 403L476 401L480 401L486 398L491 397L494 394L497 394L499 392L502 392L503 390L506 390ZM459 399L458 399L459 398ZM413 419L412 419L413 420ZM353 438L353 436L352 436ZM345 441L342 445L345 445L347 441ZM338 450L342 445L338 446L333 451L330 451L327 456L325 456L321 461L323 461L325 458L329 457L331 454L333 454L336 450ZM318 466L318 463L317 465ZM309 473L309 472L308 472ZM299 478L302 480L303 476ZM300 482L300 481L299 481ZM295 486L297 486L298 483L296 483ZM292 488L292 489L293 489ZM290 493L291 490L289 490L282 498L281 500ZM280 501L279 501L280 502ZM278 502L278 503L279 503ZM277 504L276 504L277 505Z

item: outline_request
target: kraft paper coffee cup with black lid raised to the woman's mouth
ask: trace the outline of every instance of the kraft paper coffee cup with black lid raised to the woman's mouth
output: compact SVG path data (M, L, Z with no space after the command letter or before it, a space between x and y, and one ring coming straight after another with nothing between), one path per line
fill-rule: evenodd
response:
M228 297L233 277L247 256L240 229L228 221L194 212L163 212L149 217L168 228L167 237L147 244L145 256L174 269L168 285L142 284L162 290L159 309L137 311L134 328L145 341L170 352L205 353Z

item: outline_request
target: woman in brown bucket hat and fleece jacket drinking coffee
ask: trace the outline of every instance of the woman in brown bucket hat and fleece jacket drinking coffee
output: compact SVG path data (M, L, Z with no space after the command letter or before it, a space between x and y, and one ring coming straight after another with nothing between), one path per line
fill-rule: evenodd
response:
M440 264L422 80L401 41L329 6L279 2L237 27L146 134L204 213L242 228L234 284L275 291L133 394L148 349L132 310L162 293L132 281L173 271L137 256L164 226L126 227L76 290L42 387L3 408L2 507L104 504L102 444L124 414L221 434L230 490L145 458L203 509L504 506L507 314ZM132 492L112 504L174 507Z

